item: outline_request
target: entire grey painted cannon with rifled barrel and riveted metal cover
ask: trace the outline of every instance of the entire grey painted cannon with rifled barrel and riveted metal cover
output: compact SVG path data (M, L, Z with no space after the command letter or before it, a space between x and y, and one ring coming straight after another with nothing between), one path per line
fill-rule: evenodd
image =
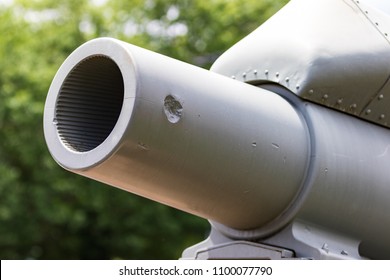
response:
M210 71L86 42L50 86L48 149L208 219L183 259L390 258L389 7L292 0Z

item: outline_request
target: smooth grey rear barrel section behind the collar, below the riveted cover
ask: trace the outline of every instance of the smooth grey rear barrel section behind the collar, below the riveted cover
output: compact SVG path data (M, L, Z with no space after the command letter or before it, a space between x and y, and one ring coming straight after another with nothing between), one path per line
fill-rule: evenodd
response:
M389 129L315 104L307 113L315 180L298 217L389 251Z

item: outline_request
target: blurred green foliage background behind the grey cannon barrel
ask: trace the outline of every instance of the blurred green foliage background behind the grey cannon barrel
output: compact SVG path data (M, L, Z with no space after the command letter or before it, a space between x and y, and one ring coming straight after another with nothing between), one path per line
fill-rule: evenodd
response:
M50 82L110 36L208 68L287 0L0 1L0 258L175 259L207 221L62 170L43 139Z

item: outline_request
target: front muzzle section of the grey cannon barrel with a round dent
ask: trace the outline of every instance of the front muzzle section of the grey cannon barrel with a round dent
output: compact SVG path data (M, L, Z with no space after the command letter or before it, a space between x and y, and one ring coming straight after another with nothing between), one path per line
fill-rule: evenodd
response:
M89 64L99 69L101 56L122 73L123 105L112 132L92 148L79 143L79 126L111 110L87 99L96 92L101 99L103 90L78 81L87 75L82 69L92 71ZM116 80L108 71L96 73L104 87ZM73 101L59 110L62 95ZM64 110L71 117L62 124L56 115ZM309 159L306 124L284 98L114 39L90 41L70 55L44 118L49 150L64 168L236 229L285 225Z

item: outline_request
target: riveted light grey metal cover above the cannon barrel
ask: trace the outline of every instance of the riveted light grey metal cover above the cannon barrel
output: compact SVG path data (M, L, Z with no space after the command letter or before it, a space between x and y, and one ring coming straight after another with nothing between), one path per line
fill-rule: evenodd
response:
M211 70L389 127L390 17L365 2L290 1Z

